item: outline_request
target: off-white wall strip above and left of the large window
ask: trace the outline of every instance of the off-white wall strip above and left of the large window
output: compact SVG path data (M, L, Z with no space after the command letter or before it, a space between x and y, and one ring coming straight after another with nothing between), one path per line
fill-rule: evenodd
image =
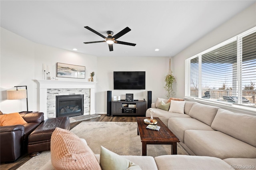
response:
M175 86L176 97L183 98L185 96L185 59L255 26L256 3L175 55L172 69L174 75L178 77Z

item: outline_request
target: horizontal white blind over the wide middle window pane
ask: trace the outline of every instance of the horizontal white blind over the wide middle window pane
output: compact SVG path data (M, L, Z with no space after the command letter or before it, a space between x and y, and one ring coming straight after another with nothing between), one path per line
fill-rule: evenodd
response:
M223 100L232 96L236 80L236 41L202 55L202 98Z

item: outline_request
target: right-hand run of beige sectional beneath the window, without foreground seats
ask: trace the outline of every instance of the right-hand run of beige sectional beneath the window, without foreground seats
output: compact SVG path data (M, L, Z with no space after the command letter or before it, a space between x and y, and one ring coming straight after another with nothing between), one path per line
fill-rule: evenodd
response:
M154 117L163 121L190 155L256 168L256 117L192 101L185 101L184 113L173 113L156 108L160 100L152 103Z

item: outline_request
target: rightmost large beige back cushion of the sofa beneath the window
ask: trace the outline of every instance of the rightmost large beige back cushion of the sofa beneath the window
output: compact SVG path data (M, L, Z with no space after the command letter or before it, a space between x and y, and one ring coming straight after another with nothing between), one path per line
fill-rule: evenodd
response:
M219 109L212 128L256 147L256 117Z

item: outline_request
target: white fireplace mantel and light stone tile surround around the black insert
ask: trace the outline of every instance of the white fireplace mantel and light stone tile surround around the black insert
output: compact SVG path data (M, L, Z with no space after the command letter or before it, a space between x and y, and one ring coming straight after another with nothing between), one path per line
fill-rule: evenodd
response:
M56 117L57 95L84 95L83 115L95 114L95 81L35 80L38 83L39 111L44 119Z

